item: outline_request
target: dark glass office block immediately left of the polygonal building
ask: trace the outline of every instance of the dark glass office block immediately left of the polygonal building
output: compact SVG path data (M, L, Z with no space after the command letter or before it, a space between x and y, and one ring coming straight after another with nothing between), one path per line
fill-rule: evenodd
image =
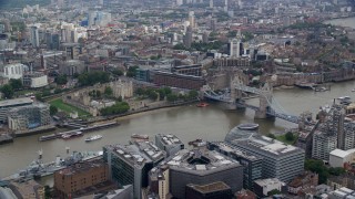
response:
M103 159L112 180L121 186L133 185L136 199L142 198L142 188L148 187L148 172L164 158L165 153L148 142L103 147Z

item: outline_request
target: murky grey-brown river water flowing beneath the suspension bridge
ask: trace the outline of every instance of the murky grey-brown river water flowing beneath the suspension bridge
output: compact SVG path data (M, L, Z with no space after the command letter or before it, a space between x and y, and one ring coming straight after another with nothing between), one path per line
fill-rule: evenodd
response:
M288 88L275 90L274 97L292 114L303 111L316 113L321 105L331 104L338 96L352 96L355 82L333 84L331 91L314 93L311 90ZM257 105L258 100L248 100L247 103ZM84 137L101 134L102 139L85 143L84 137L70 140L38 142L39 135L17 138L12 144L0 145L0 178L17 172L38 157L37 151L43 150L43 160L53 161L57 155L65 157L65 147L70 150L88 151L101 150L108 144L126 144L132 134L146 134L154 140L155 134L175 134L185 144L202 138L205 140L223 140L226 133L241 123L257 123L263 134L283 132L284 128L295 127L295 124L281 119L254 121L254 112L223 111L212 104L207 107L186 105L173 108L163 108L120 118L120 126L87 134Z

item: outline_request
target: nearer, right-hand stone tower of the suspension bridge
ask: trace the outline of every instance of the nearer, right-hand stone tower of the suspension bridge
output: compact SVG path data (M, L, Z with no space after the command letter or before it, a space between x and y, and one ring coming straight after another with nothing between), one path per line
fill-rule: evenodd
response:
M272 116L267 115L267 108L271 108L268 105L272 103L273 96L273 86L267 81L263 87L260 90L260 104L258 111L255 112L255 118L270 118Z

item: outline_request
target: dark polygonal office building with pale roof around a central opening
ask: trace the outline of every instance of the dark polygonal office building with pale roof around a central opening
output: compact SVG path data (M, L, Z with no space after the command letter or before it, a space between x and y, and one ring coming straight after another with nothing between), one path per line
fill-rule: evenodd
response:
M223 181L232 192L243 187L243 166L236 160L199 145L192 150L180 150L166 161L169 166L170 193L185 198L186 186L209 185Z

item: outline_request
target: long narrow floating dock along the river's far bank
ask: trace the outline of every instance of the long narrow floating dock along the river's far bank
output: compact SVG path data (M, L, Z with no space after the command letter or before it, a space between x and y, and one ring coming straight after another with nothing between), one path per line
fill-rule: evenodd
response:
M60 137L62 137L62 135L65 135L65 134L72 134L72 133L75 133L75 132L82 132L84 134L84 133L88 133L88 132L110 128L110 127L119 126L119 125L120 124L118 122L98 124L98 125L92 125L92 126L88 126L88 127L81 127L81 128L72 129L72 130L68 130L68 132L61 132L61 133L50 134L50 135L47 135L47 136L41 136L41 137L39 137L39 140L40 142L52 140L52 139L60 138Z

